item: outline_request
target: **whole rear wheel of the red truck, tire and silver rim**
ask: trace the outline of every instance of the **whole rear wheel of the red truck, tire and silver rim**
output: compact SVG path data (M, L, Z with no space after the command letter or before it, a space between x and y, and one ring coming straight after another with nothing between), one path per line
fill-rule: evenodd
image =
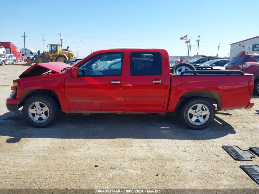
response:
M180 118L191 129L204 129L214 120L215 108L208 99L196 97L183 105Z

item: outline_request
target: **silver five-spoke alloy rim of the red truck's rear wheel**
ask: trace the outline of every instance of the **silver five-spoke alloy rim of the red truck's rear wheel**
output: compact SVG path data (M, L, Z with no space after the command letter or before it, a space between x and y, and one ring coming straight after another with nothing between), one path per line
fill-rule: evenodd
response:
M210 111L203 104L195 104L188 110L188 119L195 125L204 124L210 117Z

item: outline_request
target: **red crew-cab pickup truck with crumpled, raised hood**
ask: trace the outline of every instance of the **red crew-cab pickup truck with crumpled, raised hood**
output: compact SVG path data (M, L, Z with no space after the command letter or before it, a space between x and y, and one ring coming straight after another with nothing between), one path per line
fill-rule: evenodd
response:
M192 129L208 127L215 109L253 106L252 74L205 69L171 74L163 49L101 50L73 67L34 64L13 81L6 106L14 112L23 106L25 120L35 127L51 124L60 108L67 113L179 111L181 121Z

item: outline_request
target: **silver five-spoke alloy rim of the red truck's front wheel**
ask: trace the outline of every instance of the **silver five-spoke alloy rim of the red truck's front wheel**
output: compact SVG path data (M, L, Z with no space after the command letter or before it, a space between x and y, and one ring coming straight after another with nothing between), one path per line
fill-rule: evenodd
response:
M43 123L49 117L49 109L43 102L33 102L28 108L28 114L34 122Z

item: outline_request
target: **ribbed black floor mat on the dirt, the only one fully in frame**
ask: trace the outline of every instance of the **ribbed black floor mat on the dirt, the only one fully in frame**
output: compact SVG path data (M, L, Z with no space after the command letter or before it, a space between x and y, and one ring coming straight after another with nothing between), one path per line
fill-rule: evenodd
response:
M238 146L222 146L222 147L235 160L252 161L253 160L252 158L255 157L255 155L253 155L250 151L241 150Z

